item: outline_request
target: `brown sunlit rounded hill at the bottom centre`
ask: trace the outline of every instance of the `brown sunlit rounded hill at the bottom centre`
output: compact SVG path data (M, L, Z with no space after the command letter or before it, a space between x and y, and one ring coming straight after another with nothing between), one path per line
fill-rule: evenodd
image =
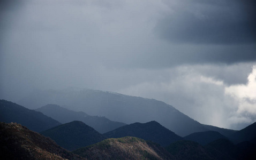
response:
M161 146L135 137L106 139L73 153L87 159L174 159Z

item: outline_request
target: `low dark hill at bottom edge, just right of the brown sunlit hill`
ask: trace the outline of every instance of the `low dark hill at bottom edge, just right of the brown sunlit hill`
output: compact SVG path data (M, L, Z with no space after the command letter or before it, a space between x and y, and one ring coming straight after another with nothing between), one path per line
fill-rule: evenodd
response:
M193 141L177 141L171 143L166 149L176 159L214 159L203 146Z

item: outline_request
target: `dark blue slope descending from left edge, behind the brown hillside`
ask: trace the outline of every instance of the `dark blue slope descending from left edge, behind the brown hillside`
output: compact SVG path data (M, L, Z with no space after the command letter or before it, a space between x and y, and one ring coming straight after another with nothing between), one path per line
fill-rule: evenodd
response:
M36 132L41 132L61 124L39 111L27 109L6 100L0 100L0 121L20 123L28 127L29 130Z

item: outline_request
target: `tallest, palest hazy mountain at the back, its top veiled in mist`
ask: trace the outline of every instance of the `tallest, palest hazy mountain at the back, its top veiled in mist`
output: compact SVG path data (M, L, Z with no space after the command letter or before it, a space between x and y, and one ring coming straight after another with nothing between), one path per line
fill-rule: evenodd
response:
M95 90L36 91L22 99L20 103L29 105L31 108L49 103L58 104L126 124L157 121L181 136L208 130L199 122L164 102L118 93Z

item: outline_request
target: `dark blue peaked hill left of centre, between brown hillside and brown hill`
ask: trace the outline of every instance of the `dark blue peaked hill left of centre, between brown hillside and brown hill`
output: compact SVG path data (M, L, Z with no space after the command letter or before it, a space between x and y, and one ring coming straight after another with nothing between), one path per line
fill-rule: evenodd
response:
M80 121L58 125L41 132L41 134L50 137L59 146L68 150L92 145L106 139L106 137L95 131L92 127Z

